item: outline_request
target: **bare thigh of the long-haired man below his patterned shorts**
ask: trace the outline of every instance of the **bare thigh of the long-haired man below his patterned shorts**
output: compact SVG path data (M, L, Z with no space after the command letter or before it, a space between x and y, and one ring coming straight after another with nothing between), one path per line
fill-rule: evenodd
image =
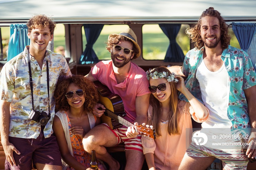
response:
M179 170L205 170L214 161L215 157L197 158L184 155Z

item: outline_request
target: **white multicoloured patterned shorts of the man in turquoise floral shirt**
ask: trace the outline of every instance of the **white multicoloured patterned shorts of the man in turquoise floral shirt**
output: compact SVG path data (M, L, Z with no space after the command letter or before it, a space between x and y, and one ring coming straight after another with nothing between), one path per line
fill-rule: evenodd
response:
M246 170L248 158L242 150L239 149L215 149L202 145L196 145L191 142L186 154L189 157L207 158L215 157L221 160L226 170Z

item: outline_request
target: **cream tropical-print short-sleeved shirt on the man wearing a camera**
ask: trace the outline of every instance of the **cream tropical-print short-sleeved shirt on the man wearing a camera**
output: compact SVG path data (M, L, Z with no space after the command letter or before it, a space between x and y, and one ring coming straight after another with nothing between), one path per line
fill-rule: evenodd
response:
M9 136L16 138L34 138L39 136L41 125L29 119L32 109L31 89L29 81L29 58L25 50L7 62L0 73L1 100L10 104ZM31 73L33 80L34 109L48 113L48 90L46 60L49 64L49 97L51 118L44 128L45 138L53 133L52 123L54 117L54 90L60 76L71 76L66 59L60 55L46 50L42 70L34 57L30 56Z

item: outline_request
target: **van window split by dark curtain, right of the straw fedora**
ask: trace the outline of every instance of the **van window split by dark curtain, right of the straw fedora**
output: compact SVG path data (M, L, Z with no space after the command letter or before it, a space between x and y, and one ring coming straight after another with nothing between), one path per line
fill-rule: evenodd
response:
M188 24L181 24L180 31L177 34L176 42L181 47L184 55L190 49L190 42L185 30L189 27ZM165 58L169 39L163 33L158 24L144 24L142 27L142 56L144 59L160 59Z

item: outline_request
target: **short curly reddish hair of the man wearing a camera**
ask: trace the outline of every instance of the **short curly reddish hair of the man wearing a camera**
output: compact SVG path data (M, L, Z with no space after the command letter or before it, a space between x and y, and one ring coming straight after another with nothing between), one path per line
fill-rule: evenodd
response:
M50 33L53 35L54 29L56 27L56 23L46 15L34 15L27 22L28 32L31 32L33 29L39 28L40 30L44 30L45 27L50 28Z

